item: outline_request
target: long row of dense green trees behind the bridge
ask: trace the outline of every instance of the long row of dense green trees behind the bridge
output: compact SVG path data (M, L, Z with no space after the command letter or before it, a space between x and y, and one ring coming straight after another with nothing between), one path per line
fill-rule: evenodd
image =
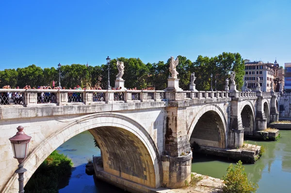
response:
M210 90L210 74L213 75L212 87L214 90L214 82L216 80L217 90L224 90L225 80L229 78L230 71L236 72L235 81L237 88L243 85L244 64L239 53L227 53L215 57L207 57L199 55L195 62L191 62L184 56L178 56L179 64L177 71L179 73L180 88L189 89L190 76L195 72L195 84L197 90ZM166 63L159 61L158 63L143 63L139 58L119 58L124 62L125 72L123 79L125 87L142 89L147 87L155 87L156 90L163 90L167 87L167 79L169 77L170 59ZM114 87L115 76L118 73L116 67L116 59L110 63L110 84ZM34 64L15 69L5 69L0 71L0 86L10 85L11 88L25 85L36 86L52 86L52 81L58 84L59 70L51 67L38 67ZM73 88L76 85L81 87L100 86L102 89L107 88L108 82L108 66L107 64L97 66L86 66L83 64L71 64L61 66L61 86L65 88Z

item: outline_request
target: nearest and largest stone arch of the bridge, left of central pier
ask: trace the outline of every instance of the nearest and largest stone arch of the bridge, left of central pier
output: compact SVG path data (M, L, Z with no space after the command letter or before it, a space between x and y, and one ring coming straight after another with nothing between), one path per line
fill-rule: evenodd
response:
M105 164L105 172L121 176L133 182L137 182L151 188L157 188L161 186L162 163L158 148L156 147L154 141L152 140L146 129L141 124L136 122L134 119L120 113L96 113L82 116L81 119L75 120L65 127L58 129L57 132L51 134L40 145L35 147L29 154L27 159L24 161L24 167L27 169L27 172L25 173L24 183L26 184L26 182L29 180L35 170L50 155L53 150L55 150L57 147L59 147L60 145L65 143L65 141L69 140L75 135L89 129L94 129L90 132L93 133L93 135L97 134L95 136L98 136L98 132L96 132L96 130L98 129L102 131L114 130L114 132L111 132L111 134L114 133L115 135L119 134L122 136L126 136L129 134L130 136L127 136L127 138L124 140L127 140L131 146L137 147L135 148L136 153L139 155L139 157L142 157L140 158L140 160L134 161L146 161L146 163L143 163L139 166L134 164L134 166L141 167L143 169L142 179L140 178L141 174L135 173L132 177L129 175L130 169L134 170L134 168L124 168L127 169L129 172L127 173L123 170L118 171L117 174L114 171L114 166L111 167L109 166L109 164L105 163L106 161L108 161L108 157L106 156L105 157L107 160L103 163L103 165ZM98 140L101 144L100 147L103 156L108 149L106 149L106 143L100 140L100 135L98 136ZM132 159L136 158L136 156L132 156ZM137 172L141 172L141 168L138 168ZM18 190L17 179L18 176L16 176L16 174L14 173L6 184L5 188L3 189L3 192L16 192L16 190Z

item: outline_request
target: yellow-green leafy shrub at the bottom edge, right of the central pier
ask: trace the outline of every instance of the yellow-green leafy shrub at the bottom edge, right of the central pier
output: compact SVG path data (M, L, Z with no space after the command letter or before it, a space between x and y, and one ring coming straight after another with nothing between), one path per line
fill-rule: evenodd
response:
M239 161L234 168L230 164L226 171L226 176L222 177L226 185L223 187L224 193L255 193L259 188L258 184L248 181L242 161Z

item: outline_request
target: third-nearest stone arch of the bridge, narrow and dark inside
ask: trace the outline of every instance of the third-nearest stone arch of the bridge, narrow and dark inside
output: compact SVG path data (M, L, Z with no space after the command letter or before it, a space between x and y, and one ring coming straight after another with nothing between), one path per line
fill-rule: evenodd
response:
M244 101L243 105L241 106L240 112L244 133L253 133L256 130L255 107L253 103L250 100Z

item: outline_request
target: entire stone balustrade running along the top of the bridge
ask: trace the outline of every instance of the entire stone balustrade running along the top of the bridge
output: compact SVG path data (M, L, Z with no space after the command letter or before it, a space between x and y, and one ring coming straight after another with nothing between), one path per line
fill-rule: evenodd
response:
M166 94L168 93L168 94ZM271 92L238 92L239 97L272 96ZM273 93L273 95L279 93ZM228 91L156 91L156 90L56 90L56 89L0 89L2 105L38 104L95 104L120 102L149 102L179 99L224 98Z

